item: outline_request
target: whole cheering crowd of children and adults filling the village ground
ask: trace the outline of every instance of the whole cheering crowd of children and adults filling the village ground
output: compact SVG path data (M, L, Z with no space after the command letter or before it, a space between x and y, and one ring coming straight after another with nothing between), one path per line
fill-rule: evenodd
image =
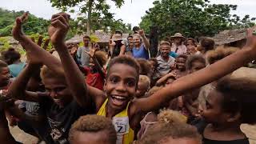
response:
M65 43L65 13L52 16L46 51L22 32L27 17L12 30L26 62L12 48L0 61L0 142L20 143L8 120L50 144L249 143L240 126L256 123L253 29L241 50L177 33L150 58L138 27L127 40L116 31L107 52L88 36Z

